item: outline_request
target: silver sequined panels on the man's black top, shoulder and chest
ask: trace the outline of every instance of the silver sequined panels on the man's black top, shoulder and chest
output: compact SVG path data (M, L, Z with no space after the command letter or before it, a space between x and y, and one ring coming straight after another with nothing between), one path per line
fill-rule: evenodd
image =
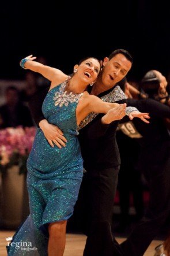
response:
M101 97L102 101L104 102L116 102L116 101L121 101L122 99L127 99L126 95L120 88L120 86L116 86L112 91L110 91L108 94L104 95ZM87 124L92 121L98 113L90 113L84 120L81 121L80 125L78 126L78 130L84 128Z

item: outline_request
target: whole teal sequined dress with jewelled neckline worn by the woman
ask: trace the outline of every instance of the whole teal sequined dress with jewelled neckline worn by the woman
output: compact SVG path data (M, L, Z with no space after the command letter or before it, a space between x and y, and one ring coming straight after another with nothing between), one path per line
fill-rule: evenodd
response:
M73 214L83 174L75 116L82 94L67 94L66 83L52 88L42 107L48 122L63 131L67 139L66 147L52 148L41 129L37 128L27 161L31 214L7 247L8 255L47 255L48 224L67 220ZM18 242L20 248L16 248ZM27 242L26 247L31 243L31 247L37 250L21 250L21 242Z

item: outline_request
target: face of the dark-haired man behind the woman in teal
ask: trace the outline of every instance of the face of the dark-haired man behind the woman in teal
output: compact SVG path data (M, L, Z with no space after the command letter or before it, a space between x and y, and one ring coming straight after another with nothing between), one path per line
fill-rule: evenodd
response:
M121 53L116 54L111 60L104 58L104 68L101 77L103 85L107 88L115 86L116 83L127 75L131 65L131 62Z

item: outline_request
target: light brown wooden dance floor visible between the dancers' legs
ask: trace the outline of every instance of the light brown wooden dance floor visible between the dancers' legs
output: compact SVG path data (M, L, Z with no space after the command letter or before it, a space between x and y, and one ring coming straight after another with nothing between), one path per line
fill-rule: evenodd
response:
M13 236L14 231L0 231L0 255L6 256L6 238L9 236ZM116 238L119 243L123 242L125 238ZM82 252L85 246L85 235L80 234L70 234L66 235L66 249L64 256L82 256ZM144 254L144 256L153 256L154 255L154 247L160 244L162 241L154 240L152 244L150 244L148 250ZM32 255L32 254L31 254Z

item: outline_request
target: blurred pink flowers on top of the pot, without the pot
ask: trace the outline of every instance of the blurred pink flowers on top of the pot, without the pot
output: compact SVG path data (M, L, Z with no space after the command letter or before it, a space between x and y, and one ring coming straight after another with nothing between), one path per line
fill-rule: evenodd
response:
M0 165L7 166L14 155L27 159L35 138L36 127L17 127L0 130ZM16 161L16 159L15 159ZM21 163L20 163L21 164Z

